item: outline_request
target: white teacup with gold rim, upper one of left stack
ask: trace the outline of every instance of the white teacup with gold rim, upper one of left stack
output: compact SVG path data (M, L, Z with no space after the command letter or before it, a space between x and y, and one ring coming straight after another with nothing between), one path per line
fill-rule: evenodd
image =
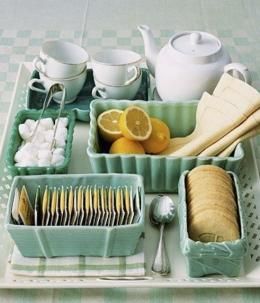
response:
M42 45L40 56L34 58L33 65L46 77L64 79L81 74L88 59L88 53L77 44L50 40Z

